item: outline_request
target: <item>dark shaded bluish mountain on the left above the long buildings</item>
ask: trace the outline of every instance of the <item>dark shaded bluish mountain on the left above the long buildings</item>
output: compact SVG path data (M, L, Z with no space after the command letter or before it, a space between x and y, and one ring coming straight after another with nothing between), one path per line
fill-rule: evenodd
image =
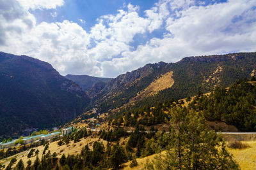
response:
M86 93L47 62L0 52L0 135L52 127L83 113Z

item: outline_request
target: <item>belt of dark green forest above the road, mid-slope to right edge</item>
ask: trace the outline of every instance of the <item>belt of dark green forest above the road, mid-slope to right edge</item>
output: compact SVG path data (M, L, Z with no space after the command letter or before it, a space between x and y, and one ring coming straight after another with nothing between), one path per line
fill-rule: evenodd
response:
M247 78L236 81L227 90L224 87L216 87L210 95L202 93L190 101L188 110L202 112L206 120L221 121L234 125L240 131L256 130L256 78L252 76L252 82ZM168 122L168 110L177 105L184 104L184 101L175 99L152 103L141 104L140 106L127 106L126 108L114 111L109 124L127 127L136 125L157 125Z

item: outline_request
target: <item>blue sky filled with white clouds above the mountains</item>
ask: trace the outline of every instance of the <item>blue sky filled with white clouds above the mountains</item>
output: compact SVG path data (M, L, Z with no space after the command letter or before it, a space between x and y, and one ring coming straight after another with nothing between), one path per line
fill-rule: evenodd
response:
M0 0L0 51L62 75L256 51L255 0Z

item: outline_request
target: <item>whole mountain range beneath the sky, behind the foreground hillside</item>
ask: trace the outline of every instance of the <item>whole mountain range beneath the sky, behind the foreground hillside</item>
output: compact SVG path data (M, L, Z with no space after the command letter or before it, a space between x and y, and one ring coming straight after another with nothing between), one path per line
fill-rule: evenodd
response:
M0 134L60 125L90 108L100 113L183 99L255 74L256 53L185 57L147 64L116 78L61 76L47 62L0 53Z

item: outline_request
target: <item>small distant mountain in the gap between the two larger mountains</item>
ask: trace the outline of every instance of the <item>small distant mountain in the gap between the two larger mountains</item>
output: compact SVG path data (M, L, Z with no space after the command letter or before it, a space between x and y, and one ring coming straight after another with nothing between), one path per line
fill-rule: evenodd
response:
M69 80L72 80L76 82L80 87L83 88L84 91L92 89L92 87L99 82L102 82L103 84L108 83L108 81L112 80L113 78L100 78L100 77L94 77L94 76L88 76L88 75L72 75L67 74L65 78L68 78Z

